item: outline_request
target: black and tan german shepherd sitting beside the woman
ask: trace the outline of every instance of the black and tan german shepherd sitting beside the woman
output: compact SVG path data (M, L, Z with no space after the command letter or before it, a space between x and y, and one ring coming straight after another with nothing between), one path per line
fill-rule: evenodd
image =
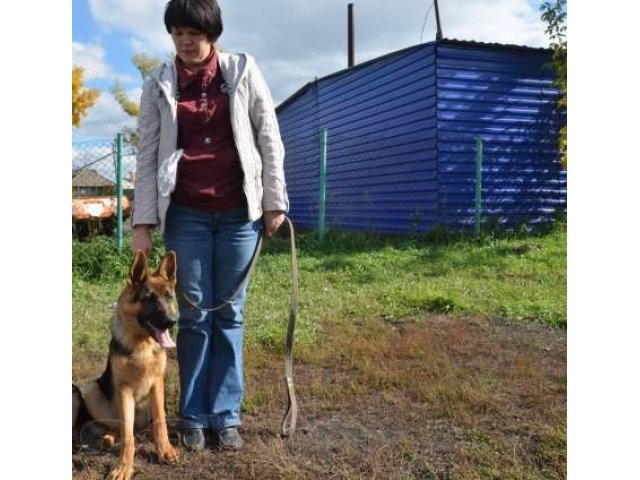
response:
M174 252L162 258L154 273L144 252L136 252L111 324L106 370L97 380L73 385L74 436L86 433L86 427L97 425L104 433L119 426L120 459L111 480L133 475L134 425L144 428L151 423L160 462L177 460L164 410L165 349L175 347L168 330L177 317L176 268ZM103 440L113 437L105 435Z

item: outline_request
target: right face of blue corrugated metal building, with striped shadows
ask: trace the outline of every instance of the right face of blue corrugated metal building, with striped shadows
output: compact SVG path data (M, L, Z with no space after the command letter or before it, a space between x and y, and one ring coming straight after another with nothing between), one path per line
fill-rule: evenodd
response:
M474 218L475 138L484 140L483 221L553 220L566 211L558 90L542 50L443 42L437 48L440 222Z

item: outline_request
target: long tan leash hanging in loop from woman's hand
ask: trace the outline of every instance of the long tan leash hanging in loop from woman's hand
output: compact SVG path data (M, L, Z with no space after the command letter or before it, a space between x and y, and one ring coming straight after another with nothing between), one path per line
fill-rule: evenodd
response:
M296 320L298 318L298 256L296 254L296 239L295 231L293 229L293 223L289 217L284 217L287 225L289 226L289 243L291 245L291 304L289 306L289 324L287 327L287 338L285 343L284 352L284 368L285 368L285 386L287 388L287 408L285 410L282 423L280 425L280 436L290 437L295 433L296 422L298 420L298 402L296 400L296 391L293 384L293 338L296 329ZM258 237L258 243L251 257L251 262L247 267L240 285L236 288L228 300L223 300L222 303L213 308L202 308L196 305L191 299L180 290L182 297L191 308L197 308L202 312L214 312L220 310L224 306L230 304L242 291L249 281L249 276L253 271L258 257L260 256L260 250L262 249L262 234Z

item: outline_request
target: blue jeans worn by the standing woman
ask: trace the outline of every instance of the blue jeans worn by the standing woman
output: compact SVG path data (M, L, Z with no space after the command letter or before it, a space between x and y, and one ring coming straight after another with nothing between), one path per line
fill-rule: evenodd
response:
M262 222L246 208L201 212L171 204L165 246L177 256L178 289L202 308L217 307L240 284ZM190 307L178 292L180 416L186 428L219 430L240 425L244 393L242 347L246 285L215 312Z

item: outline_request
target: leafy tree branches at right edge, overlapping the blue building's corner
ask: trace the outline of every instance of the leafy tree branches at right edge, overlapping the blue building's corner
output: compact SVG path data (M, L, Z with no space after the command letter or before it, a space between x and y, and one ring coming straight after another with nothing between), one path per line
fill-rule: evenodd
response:
M541 19L547 24L551 66L556 73L555 85L560 89L558 106L567 108L567 0L544 1L540 5ZM567 166L567 127L560 129L558 146L562 163Z

